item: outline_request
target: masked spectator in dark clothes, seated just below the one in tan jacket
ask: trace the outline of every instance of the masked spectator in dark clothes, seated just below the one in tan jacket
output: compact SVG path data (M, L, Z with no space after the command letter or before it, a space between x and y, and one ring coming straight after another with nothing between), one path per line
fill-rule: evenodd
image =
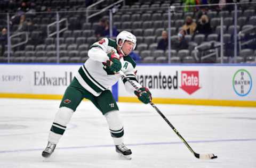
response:
M178 33L178 39L172 41L172 48L176 50L188 49L188 41L185 39L186 31L180 30Z

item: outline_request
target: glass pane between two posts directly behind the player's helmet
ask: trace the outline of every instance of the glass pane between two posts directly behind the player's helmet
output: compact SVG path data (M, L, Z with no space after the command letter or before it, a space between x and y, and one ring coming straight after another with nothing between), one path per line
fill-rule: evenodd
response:
M126 5L114 11L113 32L131 31L137 37L137 47L131 54L135 62L167 63L167 38L162 48L157 48L157 43L161 40L162 31L167 30L169 4Z

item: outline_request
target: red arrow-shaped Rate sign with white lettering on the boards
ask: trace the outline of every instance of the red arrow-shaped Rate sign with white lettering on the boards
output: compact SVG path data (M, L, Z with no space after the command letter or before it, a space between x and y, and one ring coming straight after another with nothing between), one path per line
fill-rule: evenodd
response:
M189 95L193 94L199 87L198 71L181 71L181 87Z

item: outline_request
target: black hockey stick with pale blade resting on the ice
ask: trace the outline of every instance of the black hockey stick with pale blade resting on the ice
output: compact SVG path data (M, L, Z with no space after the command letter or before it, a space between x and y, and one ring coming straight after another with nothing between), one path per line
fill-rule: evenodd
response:
M130 80L128 77L126 77L126 75L124 74L124 72L120 71L119 72L123 78L125 78L127 81L129 81L129 83L131 83L131 85L136 89L136 90L139 90L139 88L134 85L134 83L132 82L132 80ZM214 154L198 154L198 153L195 153L194 150L188 145L188 142L180 135L180 133L178 132L177 129L175 129L173 127L173 125L171 124L171 122L166 119L166 117L164 116L164 114L156 107L156 105L153 103L153 102L149 102L149 104L155 108L155 110L157 111L158 114L160 114L162 116L162 118L167 122L167 124L172 128L172 130L176 133L176 135L178 137L180 137L180 139L183 141L183 143L188 147L188 149L190 150L191 153L194 154L194 156L196 158L199 158L199 159L214 159L214 158L217 158L217 155L214 155Z

